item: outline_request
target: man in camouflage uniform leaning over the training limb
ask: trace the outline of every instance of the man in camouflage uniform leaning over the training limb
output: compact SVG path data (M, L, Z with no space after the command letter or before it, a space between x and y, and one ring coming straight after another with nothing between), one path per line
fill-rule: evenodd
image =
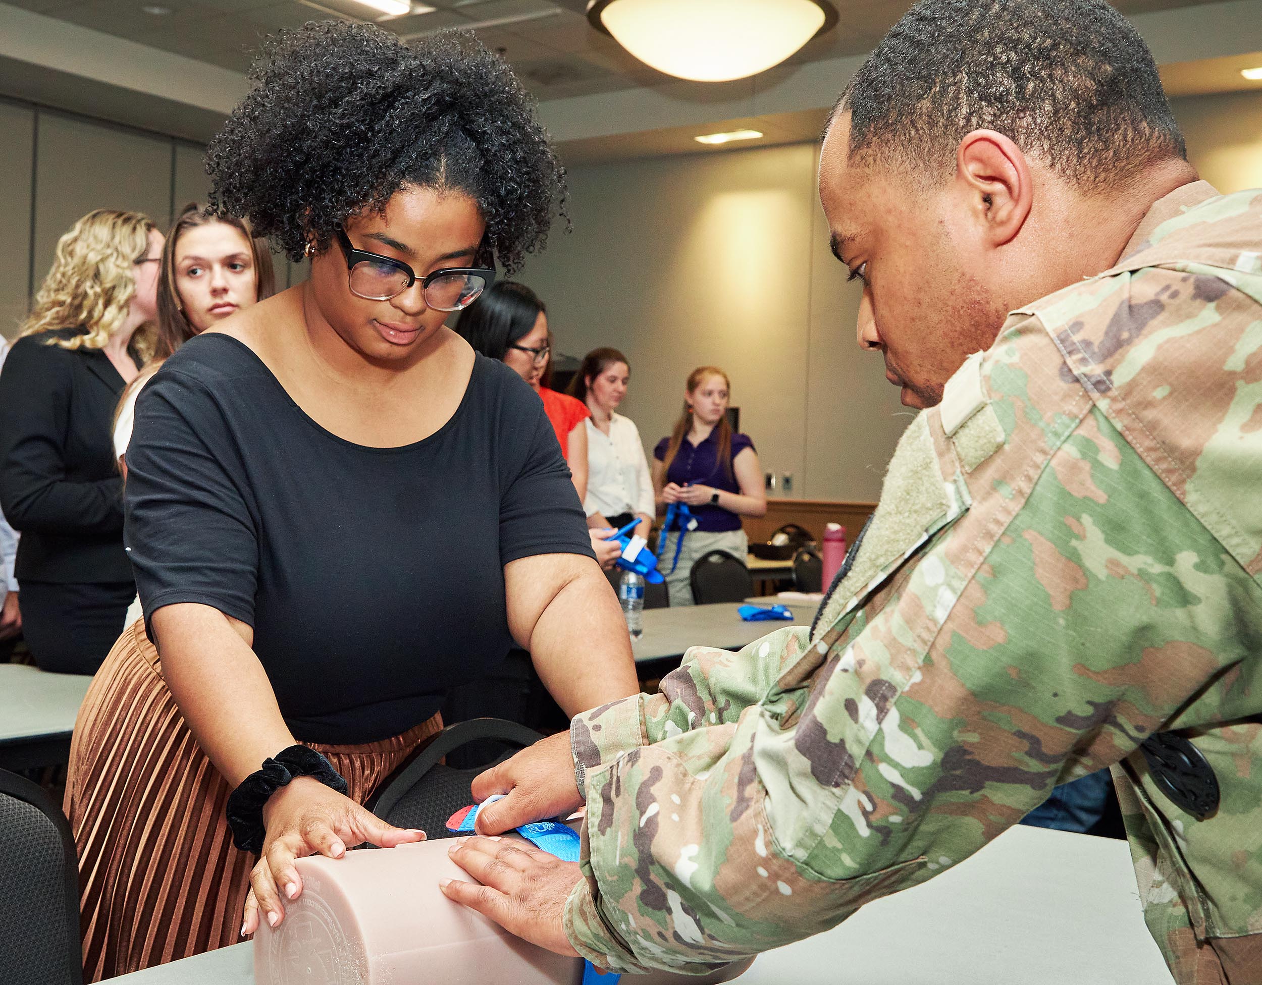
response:
M1262 982L1262 192L1195 180L1095 0L914 8L820 192L861 343L931 406L848 570L810 631L574 719L581 868L473 839L486 885L445 892L602 967L702 970L1112 767L1175 979ZM569 767L549 739L481 777L510 793L480 829L570 806Z

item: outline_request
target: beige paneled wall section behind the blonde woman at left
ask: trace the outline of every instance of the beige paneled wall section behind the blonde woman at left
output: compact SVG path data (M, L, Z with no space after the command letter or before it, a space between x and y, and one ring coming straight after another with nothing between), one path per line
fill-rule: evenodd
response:
M172 211L204 201L203 148L186 140L0 100L0 334L13 338L57 248L95 208L144 212L162 230ZM276 257L280 288L305 265Z

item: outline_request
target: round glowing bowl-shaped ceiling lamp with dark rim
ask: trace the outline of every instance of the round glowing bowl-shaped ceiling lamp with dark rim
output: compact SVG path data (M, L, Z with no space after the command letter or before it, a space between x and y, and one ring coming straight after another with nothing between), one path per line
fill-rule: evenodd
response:
M597 30L659 72L727 82L780 64L832 29L828 0L592 0Z

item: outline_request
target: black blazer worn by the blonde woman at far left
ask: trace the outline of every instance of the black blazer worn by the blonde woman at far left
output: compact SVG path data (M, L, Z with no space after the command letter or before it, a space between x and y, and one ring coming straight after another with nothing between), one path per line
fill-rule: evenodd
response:
M0 371L0 510L19 583L130 581L111 424L124 382L100 349L18 339Z

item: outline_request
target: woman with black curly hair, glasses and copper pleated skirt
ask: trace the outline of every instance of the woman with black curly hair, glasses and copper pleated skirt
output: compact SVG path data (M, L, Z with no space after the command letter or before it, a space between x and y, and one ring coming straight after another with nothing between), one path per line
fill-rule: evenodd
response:
M539 399L443 324L562 193L525 91L468 37L339 23L281 32L252 78L212 206L310 279L136 402L145 621L88 692L66 792L92 979L279 923L297 856L424 837L361 805L514 643L568 714L639 690Z

